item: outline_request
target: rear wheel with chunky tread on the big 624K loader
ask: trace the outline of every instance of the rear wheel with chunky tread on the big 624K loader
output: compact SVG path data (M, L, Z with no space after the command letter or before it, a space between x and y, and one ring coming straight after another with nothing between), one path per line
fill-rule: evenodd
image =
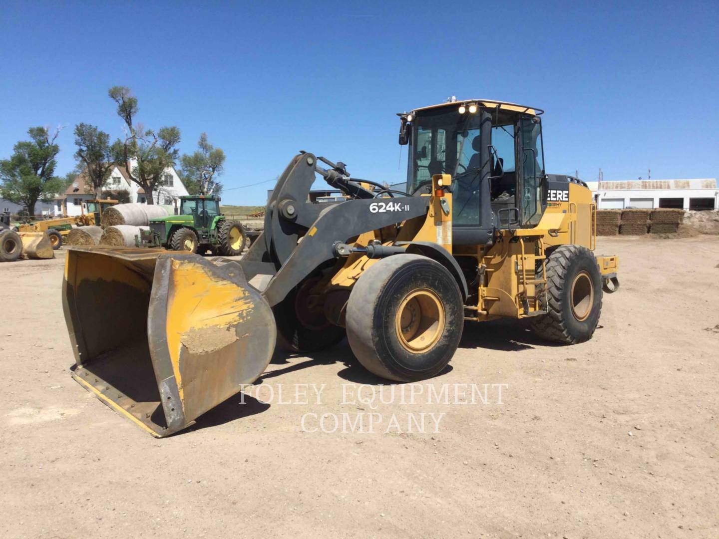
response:
M561 344L588 341L602 313L602 276L594 254L579 245L562 245L546 262L549 311L532 319L536 336ZM539 293L541 294L541 290Z

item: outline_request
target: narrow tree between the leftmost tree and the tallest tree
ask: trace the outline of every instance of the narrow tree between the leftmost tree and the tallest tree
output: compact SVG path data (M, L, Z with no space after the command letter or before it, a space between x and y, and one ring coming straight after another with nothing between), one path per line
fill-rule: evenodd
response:
M110 151L110 135L96 126L78 124L75 126L75 146L78 147L75 159L86 170L85 181L95 191L95 197L100 198L115 166Z

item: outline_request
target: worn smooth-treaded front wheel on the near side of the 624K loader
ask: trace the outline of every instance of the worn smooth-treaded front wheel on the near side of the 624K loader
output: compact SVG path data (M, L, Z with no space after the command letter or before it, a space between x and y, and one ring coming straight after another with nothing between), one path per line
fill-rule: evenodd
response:
M395 254L365 270L347 302L347 340L377 376L415 382L439 374L462 338L464 304L446 268Z

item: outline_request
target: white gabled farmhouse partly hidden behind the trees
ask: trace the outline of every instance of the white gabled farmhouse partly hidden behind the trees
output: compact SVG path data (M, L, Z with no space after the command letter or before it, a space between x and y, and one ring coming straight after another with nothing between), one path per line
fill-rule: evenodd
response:
M131 166L133 164L131 163ZM137 183L130 180L125 167L113 167L110 177L104 185L104 190L126 191L130 202L141 204L147 203L147 195ZM180 180L175 167L168 167L162 174L162 181L155 185L152 198L155 204L167 204L168 206L179 206L178 198L188 195L185 185ZM68 216L78 216L83 213L83 203L95 198L95 192L88 188L83 176L79 175L73 185L65 191L64 213ZM63 211L60 211L63 213Z

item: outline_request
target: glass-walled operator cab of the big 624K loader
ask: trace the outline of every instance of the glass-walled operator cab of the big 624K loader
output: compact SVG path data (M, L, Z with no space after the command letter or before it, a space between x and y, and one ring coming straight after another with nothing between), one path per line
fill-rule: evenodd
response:
M498 229L536 226L546 207L543 111L498 101L452 101L400 114L409 145L407 192L452 176L455 244L489 244Z

